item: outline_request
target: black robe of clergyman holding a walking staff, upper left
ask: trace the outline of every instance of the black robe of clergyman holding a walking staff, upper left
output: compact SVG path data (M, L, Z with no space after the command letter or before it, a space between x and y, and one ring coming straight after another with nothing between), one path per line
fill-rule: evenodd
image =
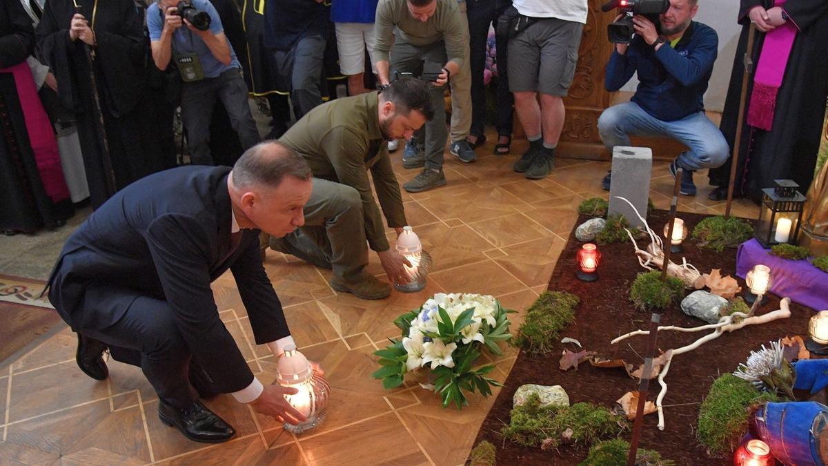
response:
M55 74L61 102L75 112L91 203L97 208L119 189L167 163L161 149L163 138L149 137L145 127L150 118L142 118L147 115L145 99L150 95L146 92L147 41L134 2L76 1L97 37L91 69L84 42L69 37L75 14L72 0L46 2L36 29L37 50Z

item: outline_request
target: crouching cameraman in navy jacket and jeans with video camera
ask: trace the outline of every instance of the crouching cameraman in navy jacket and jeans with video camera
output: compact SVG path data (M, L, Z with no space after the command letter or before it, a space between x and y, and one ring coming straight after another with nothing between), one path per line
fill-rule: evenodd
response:
M719 167L728 157L728 145L705 115L707 90L719 37L693 17L698 0L670 0L658 15L657 26L643 15L633 17L635 36L628 44L616 43L607 65L604 86L619 90L638 71L638 90L631 102L605 109L598 119L604 146L628 146L629 135L666 136L684 143L689 151L670 163L670 173L681 173L681 194L696 195L693 172ZM625 13L619 15L623 18ZM601 186L609 191L612 172Z

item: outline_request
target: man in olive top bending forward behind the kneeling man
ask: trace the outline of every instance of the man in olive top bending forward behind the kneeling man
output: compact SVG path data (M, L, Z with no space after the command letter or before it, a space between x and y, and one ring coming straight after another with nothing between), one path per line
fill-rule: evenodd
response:
M436 76L431 87L435 118L414 134L415 140L409 141L402 158L404 167L424 169L403 187L408 192L421 192L443 186L447 136L443 93L452 77L460 75L469 48L469 28L462 22L457 0L379 0L374 36L373 56L381 85L391 80L392 67L414 75ZM420 152L417 146L422 143L425 148ZM474 161L473 151L468 157L458 154L464 162Z

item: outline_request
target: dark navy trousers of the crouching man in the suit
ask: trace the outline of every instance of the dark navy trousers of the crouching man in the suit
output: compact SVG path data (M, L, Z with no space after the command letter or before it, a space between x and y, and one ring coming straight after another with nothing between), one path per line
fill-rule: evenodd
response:
M192 354L166 301L116 285L89 284L84 304L83 322L69 322L73 330L106 343L116 361L141 367L159 398L185 408L199 393L218 392L190 383L207 376L190 363ZM118 315L115 323L107 323L109 316ZM100 328L96 323L107 324Z

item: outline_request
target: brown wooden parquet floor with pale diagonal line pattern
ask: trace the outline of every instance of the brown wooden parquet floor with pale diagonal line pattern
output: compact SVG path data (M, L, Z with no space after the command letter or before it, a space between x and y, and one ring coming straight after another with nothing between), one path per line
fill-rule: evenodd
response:
M491 146L491 144L489 144ZM585 197L608 197L600 179L609 163L560 160L544 180L514 173L516 155L479 150L474 164L446 157L448 185L403 193L407 217L435 258L428 286L416 294L392 293L364 301L330 288L330 270L267 251L265 267L277 289L293 336L320 362L331 386L328 417L319 429L294 435L230 396L208 400L238 434L225 444L190 442L161 424L158 400L137 367L109 362L108 381L92 381L75 366L75 335L68 329L18 359L0 374L0 464L462 464L493 398L471 396L464 410L443 409L417 381L383 390L370 378L372 352L398 337L392 320L437 292L493 294L522 310L546 289L575 207ZM402 181L418 170L402 168ZM709 201L711 187L696 175L697 197L682 197L680 210L724 212ZM653 167L652 200L665 206L672 191L666 163ZM758 215L749 201L734 202L739 216ZM389 237L393 234L389 231ZM386 279L372 253L368 271ZM230 274L213 284L220 317L248 365L263 383L275 378L275 360L255 345ZM515 327L522 313L513 314ZM494 376L505 377L517 356L505 348Z

